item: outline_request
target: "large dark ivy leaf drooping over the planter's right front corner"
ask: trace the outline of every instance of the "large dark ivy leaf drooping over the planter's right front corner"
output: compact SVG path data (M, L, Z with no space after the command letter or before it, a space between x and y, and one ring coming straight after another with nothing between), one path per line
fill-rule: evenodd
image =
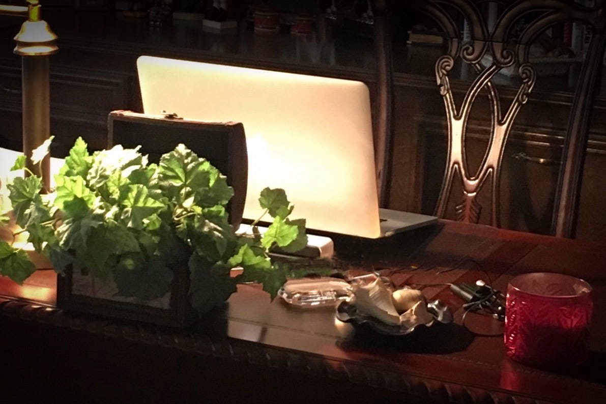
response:
M236 291L236 281L230 277L230 265L222 262L212 264L198 254L192 254L189 268L190 302L200 314L223 305Z

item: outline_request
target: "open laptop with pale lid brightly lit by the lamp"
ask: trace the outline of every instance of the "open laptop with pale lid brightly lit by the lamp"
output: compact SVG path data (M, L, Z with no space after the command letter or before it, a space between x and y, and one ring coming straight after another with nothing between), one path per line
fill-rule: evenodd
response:
M284 188L309 233L376 239L436 221L379 209L364 83L151 56L137 68L144 113L244 124L245 219L263 214L259 193L271 187Z

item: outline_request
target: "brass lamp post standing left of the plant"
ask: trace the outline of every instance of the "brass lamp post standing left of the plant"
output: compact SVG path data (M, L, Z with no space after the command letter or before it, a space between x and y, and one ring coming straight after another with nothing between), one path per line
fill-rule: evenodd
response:
M40 19L38 0L28 0L27 7L0 5L0 14L24 16L27 18L21 30L15 36L15 54L21 56L23 153L32 156L32 151L50 136L50 91L48 55L59 48L57 36ZM41 166L26 160L26 167L42 177L44 188L48 190L50 181L50 159L47 157ZM27 175L27 172L26 172Z

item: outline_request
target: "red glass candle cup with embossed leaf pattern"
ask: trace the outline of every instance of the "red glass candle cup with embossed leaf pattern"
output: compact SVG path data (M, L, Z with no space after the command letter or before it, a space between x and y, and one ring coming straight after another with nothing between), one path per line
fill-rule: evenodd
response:
M516 276L507 285L505 349L525 365L562 369L587 360L591 286L553 273Z

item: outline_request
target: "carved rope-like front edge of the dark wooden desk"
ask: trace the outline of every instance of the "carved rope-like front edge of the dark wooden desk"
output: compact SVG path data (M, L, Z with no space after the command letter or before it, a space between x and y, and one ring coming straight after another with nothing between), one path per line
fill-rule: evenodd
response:
M38 322L59 328L124 339L135 343L173 348L200 356L212 356L233 362L246 362L268 368L281 368L291 373L344 380L371 388L401 391L431 402L464 403L548 403L511 391L497 391L481 386L468 386L444 380L431 379L387 371L353 360L337 360L256 342L225 337L211 340L208 336L193 336L187 330L158 329L154 326L120 322L101 317L66 313L51 305L25 302L0 296L0 314L19 320ZM404 397L403 397L404 398Z

